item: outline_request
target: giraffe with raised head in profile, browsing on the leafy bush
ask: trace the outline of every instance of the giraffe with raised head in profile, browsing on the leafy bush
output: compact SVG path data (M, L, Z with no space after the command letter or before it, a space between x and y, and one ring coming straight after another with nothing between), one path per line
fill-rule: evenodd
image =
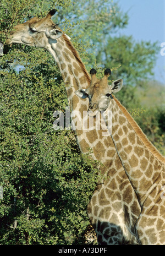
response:
M102 126L97 129L94 118L87 115L88 100L81 100L75 95L75 91L89 87L91 78L69 37L53 23L51 17L55 12L53 9L45 18L34 17L16 25L7 43L41 47L51 54L65 83L79 148L83 154L92 149L92 159L102 162L100 170L106 178L98 181L87 205L87 214L95 229L98 244L139 244L135 232L141 210L138 198L124 172L102 116ZM92 129L78 126L78 123L83 122L89 126L91 121L94 121Z

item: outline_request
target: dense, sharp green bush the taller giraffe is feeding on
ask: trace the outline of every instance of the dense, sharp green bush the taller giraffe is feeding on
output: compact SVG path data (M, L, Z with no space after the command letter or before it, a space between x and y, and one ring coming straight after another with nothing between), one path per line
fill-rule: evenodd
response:
M13 0L9 8L2 1L1 41L35 10L47 14L54 7L47 2ZM98 168L81 155L72 130L53 129L53 112L68 105L56 64L45 50L4 45L0 76L0 243L84 243Z

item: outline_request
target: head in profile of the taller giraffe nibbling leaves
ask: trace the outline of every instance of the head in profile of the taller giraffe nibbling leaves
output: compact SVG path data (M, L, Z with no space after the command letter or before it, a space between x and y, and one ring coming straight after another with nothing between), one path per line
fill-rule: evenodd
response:
M63 32L53 23L51 17L56 10L51 10L45 18L31 18L23 24L14 26L9 39L6 41L8 45L11 43L23 43L24 45L47 48L48 44L57 42Z

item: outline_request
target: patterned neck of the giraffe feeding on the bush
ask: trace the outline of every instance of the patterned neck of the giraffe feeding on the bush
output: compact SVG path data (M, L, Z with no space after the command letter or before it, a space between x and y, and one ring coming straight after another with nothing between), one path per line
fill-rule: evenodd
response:
M94 149L95 143L97 142L96 138L102 137L102 130L96 130L95 121L93 123L94 129L88 129L89 124L93 121L93 118L87 115L89 100L82 100L74 93L78 89L86 89L89 87L89 74L81 61L78 52L75 50L67 36L63 35L60 37L57 40L57 43L50 44L47 50L53 56L54 61L57 63L62 74L65 89L67 91L72 124L75 124L76 141L80 150L83 153L86 153L89 151L89 148ZM105 130L103 132L105 132ZM98 159L98 155L95 154L95 152L94 154L91 154L91 156L95 160ZM101 160L100 157L102 157L102 161L105 161L105 152L100 154L99 160Z

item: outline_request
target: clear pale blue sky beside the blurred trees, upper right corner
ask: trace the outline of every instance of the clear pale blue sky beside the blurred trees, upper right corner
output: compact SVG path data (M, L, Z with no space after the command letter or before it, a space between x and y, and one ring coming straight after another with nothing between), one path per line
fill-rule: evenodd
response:
M129 24L120 35L132 35L136 41L165 42L165 0L118 0L123 12L128 12ZM165 85L165 56L158 54L154 79Z

